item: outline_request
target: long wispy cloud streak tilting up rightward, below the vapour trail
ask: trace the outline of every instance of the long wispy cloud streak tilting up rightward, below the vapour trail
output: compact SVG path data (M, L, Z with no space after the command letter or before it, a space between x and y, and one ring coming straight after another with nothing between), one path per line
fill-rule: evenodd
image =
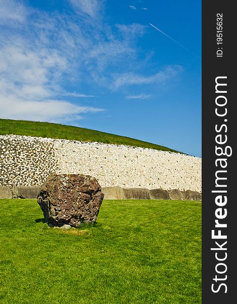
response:
M133 72L127 72L123 74L114 74L114 82L111 88L114 90L119 89L122 86L128 85L143 85L152 83L161 83L172 77L182 70L181 66L168 66L158 73L151 76L144 76L135 74Z

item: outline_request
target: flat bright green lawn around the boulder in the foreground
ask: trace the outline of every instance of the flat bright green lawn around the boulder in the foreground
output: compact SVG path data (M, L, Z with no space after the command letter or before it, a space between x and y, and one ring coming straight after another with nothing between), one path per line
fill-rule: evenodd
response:
M201 202L107 200L64 232L36 200L0 210L3 304L201 303Z

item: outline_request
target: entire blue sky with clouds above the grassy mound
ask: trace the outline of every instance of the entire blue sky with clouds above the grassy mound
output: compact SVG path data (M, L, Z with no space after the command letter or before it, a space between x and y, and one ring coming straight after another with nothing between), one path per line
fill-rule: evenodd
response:
M201 1L0 0L0 29L1 118L201 157Z

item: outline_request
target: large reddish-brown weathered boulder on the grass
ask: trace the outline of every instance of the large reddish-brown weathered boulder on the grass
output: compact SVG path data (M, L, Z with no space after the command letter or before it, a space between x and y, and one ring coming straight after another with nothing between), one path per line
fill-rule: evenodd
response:
M45 220L55 226L77 227L95 222L104 198L97 179L83 174L52 174L37 197Z

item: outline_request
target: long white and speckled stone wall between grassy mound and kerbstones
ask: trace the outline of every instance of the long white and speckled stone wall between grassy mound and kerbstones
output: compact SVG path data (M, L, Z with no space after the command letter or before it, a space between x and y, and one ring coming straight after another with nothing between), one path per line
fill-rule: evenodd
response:
M202 192L202 160L125 145L0 136L0 185L41 185L53 173L86 174L102 187Z

